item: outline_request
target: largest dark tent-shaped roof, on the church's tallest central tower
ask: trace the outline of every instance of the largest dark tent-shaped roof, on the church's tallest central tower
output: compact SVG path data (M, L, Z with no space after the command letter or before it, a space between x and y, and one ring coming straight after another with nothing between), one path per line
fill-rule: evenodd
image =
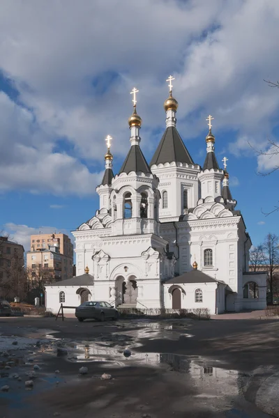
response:
M195 164L188 153L179 132L174 126L169 126L165 130L150 165L164 164L165 162L186 162L186 164Z

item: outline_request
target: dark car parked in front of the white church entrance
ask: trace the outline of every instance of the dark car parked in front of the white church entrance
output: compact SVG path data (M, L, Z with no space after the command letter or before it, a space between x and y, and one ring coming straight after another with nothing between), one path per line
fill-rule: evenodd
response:
M118 319L119 312L107 302L84 302L75 308L75 316L80 322L84 319L105 320L105 318Z

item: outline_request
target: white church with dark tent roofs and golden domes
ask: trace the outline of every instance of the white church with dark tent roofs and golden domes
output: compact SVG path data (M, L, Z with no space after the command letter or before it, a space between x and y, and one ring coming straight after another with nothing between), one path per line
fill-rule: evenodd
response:
M211 314L266 307L266 273L249 272L252 243L229 190L227 159L223 170L214 152L212 116L199 166L176 129L172 79L166 129L150 163L140 148L135 88L130 149L117 174L107 137L105 173L96 188L100 209L73 231L77 277L45 286L46 307L54 313L61 303L77 307L87 300L143 311L208 308Z

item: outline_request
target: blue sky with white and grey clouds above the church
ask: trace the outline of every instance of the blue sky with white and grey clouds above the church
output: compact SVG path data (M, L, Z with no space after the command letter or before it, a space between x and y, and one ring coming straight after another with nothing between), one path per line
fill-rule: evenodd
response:
M104 138L114 172L129 143L136 86L142 149L165 129L165 79L177 127L203 164L205 118L252 241L278 231L278 0L2 0L0 3L0 229L25 249L37 231L70 231L98 208ZM276 161L277 158L277 161Z

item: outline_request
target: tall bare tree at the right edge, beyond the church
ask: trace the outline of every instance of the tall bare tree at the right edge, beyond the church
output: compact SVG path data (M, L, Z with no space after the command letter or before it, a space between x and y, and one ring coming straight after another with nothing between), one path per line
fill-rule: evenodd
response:
M273 303L273 293L276 291L276 278L279 265L279 237L275 233L266 235L266 240L262 244L263 261L269 274L269 291L271 303Z

